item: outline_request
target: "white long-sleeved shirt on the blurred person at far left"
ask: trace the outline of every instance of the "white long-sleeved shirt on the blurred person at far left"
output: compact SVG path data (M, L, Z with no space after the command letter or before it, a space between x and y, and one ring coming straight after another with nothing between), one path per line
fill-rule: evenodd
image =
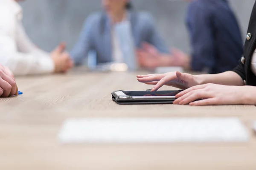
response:
M54 71L49 54L38 49L26 35L22 9L14 0L0 0L0 63L17 75Z

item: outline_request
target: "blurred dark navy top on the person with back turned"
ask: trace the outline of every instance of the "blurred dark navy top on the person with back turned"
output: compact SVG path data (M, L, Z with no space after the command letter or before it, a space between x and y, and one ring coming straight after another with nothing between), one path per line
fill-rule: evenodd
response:
M187 26L192 45L192 70L210 74L230 71L243 54L241 32L227 0L194 0Z

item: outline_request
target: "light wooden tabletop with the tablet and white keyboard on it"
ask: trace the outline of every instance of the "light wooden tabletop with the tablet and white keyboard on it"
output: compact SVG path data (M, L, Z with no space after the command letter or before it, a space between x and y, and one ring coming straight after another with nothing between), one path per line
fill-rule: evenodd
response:
M145 90L134 73L17 78L23 95L0 99L0 170L255 170L254 106L116 105L115 90ZM172 89L172 88L163 88ZM60 144L64 120L88 117L237 116L250 130L243 144Z

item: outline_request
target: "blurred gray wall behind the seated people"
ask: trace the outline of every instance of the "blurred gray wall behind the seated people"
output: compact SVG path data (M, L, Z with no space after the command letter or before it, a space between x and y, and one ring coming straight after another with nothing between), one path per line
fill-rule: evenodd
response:
M250 12L255 0L229 0L245 37ZM182 0L133 0L137 10L153 14L166 44L189 51L185 27L187 2ZM46 51L66 41L70 50L76 43L84 19L101 10L101 0L26 0L23 23L29 37ZM185 41L184 41L185 40Z

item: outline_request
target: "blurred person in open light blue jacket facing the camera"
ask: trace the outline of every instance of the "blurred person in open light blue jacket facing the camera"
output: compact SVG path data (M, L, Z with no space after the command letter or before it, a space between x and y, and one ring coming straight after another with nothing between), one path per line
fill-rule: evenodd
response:
M130 0L102 0L102 6L103 12L91 14L85 20L79 40L70 53L76 65L83 64L90 51L96 53L96 65L111 62L134 65L136 48L143 46L143 42L161 53L169 53L150 14L132 9ZM159 57L162 63L165 59Z

